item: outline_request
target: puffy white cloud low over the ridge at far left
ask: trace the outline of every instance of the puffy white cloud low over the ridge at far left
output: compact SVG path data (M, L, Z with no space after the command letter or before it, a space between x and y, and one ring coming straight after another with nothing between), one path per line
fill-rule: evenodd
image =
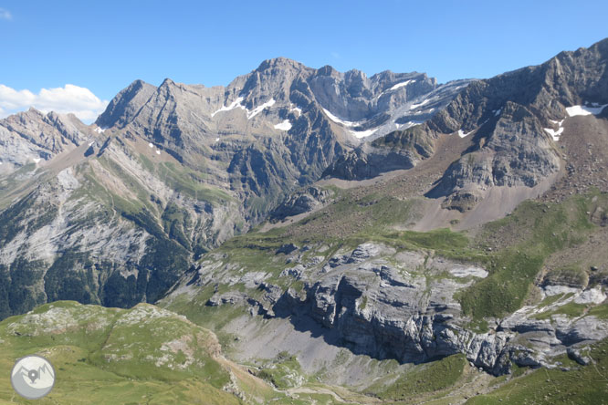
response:
M43 112L71 112L79 119L91 122L106 106L108 100L100 100L89 88L70 84L63 88L42 88L37 94L0 84L0 118L34 107Z

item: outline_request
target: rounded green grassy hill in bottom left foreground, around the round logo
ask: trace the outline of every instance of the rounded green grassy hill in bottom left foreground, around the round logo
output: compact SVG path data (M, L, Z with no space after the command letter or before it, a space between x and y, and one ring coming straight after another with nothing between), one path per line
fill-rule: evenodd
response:
M215 336L155 306L55 302L5 319L0 343L0 403L240 403L223 390L231 379L215 359ZM56 384L44 399L29 401L8 376L16 358L34 353L52 362Z

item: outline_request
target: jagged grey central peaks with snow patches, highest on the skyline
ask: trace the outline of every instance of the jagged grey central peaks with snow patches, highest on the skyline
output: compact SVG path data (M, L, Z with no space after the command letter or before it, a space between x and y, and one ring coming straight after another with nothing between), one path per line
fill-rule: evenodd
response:
M135 81L110 102L97 124L152 141L203 170L262 218L296 186L320 178L358 138L374 139L432 117L468 82L439 86L425 74L307 68L276 58L226 88L158 88ZM424 107L423 107L424 106Z

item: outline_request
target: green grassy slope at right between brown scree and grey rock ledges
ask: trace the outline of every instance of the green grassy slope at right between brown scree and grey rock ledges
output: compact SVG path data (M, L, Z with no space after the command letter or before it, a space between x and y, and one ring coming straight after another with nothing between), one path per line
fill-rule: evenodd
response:
M596 228L587 214L593 197L601 197L595 198L596 203L607 199L604 194L591 193L562 203L527 201L512 215L487 223L477 237L482 246L495 234L513 234L517 242L487 254L488 277L457 296L465 313L476 318L501 317L522 306L545 259L582 244ZM585 276L573 267L559 272L574 282L585 282Z

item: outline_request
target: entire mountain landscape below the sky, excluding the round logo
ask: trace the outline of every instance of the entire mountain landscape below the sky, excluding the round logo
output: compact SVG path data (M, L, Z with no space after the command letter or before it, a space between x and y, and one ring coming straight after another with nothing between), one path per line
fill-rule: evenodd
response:
M51 360L40 403L608 403L607 225L608 39L135 80L0 119L0 364Z

